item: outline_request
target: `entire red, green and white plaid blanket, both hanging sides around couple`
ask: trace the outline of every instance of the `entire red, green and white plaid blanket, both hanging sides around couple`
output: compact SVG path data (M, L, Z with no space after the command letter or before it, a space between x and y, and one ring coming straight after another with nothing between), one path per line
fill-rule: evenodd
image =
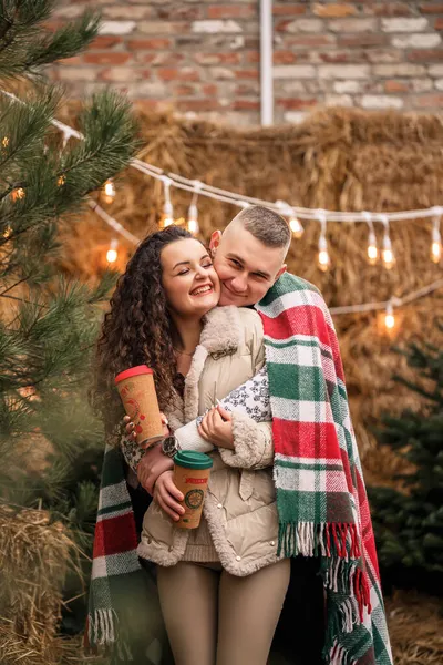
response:
M375 546L337 336L319 291L285 274L256 309L265 329L285 555L322 556L328 665L391 665ZM306 444L309 442L309 448ZM313 448L312 448L313 442ZM106 447L85 643L123 662L163 632L138 563L120 449Z

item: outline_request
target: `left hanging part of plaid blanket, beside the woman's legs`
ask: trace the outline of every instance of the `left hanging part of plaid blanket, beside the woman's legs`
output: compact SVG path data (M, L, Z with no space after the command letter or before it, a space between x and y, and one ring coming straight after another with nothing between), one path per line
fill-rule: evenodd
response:
M137 533L120 449L106 446L95 524L85 646L113 662L147 664L164 632L155 582L137 556Z

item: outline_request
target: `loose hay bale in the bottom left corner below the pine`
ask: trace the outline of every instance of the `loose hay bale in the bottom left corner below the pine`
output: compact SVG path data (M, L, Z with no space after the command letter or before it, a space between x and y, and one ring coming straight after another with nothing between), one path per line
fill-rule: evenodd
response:
M73 543L43 510L0 505L0 663L59 662L56 628Z

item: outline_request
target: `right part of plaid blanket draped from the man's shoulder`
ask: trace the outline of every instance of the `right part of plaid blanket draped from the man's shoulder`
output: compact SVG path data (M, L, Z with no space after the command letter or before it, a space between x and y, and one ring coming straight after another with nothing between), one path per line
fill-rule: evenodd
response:
M284 274L265 330L279 551L320 555L328 665L391 665L375 544L338 339L318 289Z

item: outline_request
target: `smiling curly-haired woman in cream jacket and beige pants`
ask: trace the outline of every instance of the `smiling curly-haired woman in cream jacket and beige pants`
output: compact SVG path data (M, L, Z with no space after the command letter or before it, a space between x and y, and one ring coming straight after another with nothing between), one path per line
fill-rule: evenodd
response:
M121 420L113 379L127 367L154 369L158 402L173 429L260 370L259 316L235 307L214 309L218 296L210 257L187 232L168 227L140 245L119 282L99 342L97 393L111 434L117 436ZM176 665L265 665L290 574L289 561L277 555L270 423L233 413L231 431L226 429L210 454L200 526L181 531L154 503L138 553L157 563ZM163 489L174 491L168 473L157 483L156 501Z

